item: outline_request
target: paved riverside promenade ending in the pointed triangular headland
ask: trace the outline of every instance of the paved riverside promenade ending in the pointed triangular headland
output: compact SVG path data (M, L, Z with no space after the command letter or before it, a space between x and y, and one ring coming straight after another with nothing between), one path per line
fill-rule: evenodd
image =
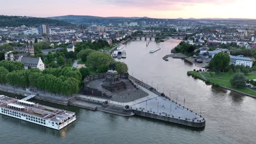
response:
M133 98L131 95L131 98L126 98L124 102L125 97L118 94L115 94L113 99L82 94L74 94L73 97L66 97L64 95L55 95L41 91L25 91L22 88L14 88L9 85L0 86L0 91L24 95L25 97L36 94L37 96L35 98L39 100L62 105L73 105L89 110L99 110L120 116L138 115L195 128L205 127L206 121L201 115L165 97L164 94L159 93L153 87L137 80L135 77L129 76L129 80L136 86L136 90L133 89L135 91L134 94L140 94L142 91L146 94L143 97L137 95L137 97ZM104 104L106 101L108 102L107 105Z

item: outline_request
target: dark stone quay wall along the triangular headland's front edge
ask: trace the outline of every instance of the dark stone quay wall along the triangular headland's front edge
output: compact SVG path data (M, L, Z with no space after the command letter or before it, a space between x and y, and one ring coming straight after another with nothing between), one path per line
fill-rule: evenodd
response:
M193 122L193 121L188 121L188 120L181 119L181 118L158 115L158 114L155 114L155 113L150 113L150 112L145 112L145 111L138 111L138 110L133 110L132 112L135 113L135 115L138 115L138 116L159 119L161 121L166 121L166 122L178 123L178 124L182 124L182 125L187 125L189 127L194 127L194 128L203 128L203 127L205 127L205 121L203 121L203 122Z

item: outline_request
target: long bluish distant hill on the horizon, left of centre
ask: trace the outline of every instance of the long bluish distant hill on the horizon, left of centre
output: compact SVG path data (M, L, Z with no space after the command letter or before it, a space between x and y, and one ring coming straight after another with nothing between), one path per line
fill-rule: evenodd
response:
M47 17L48 19L61 20L71 23L124 23L124 21L133 22L139 19L150 19L149 17L100 17L100 16L89 16L89 15L65 15L65 16L54 16Z

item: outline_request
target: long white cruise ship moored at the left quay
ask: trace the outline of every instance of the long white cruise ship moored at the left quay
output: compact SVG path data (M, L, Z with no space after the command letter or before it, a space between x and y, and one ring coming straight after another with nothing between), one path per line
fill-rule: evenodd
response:
M0 95L0 113L60 130L75 121L75 113Z

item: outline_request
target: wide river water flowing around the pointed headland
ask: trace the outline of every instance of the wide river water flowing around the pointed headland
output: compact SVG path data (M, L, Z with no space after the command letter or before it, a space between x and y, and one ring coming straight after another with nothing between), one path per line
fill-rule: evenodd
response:
M1 115L0 143L255 143L256 99L213 88L187 76L187 71L196 67L182 59L162 60L179 42L152 41L146 47L145 40L130 41L123 49L127 58L120 61L129 66L129 73L137 79L153 84L173 100L178 98L180 104L185 98L185 106L197 113L201 109L206 119L204 129L33 100L74 111L77 121L57 131ZM160 51L149 53L158 47Z

